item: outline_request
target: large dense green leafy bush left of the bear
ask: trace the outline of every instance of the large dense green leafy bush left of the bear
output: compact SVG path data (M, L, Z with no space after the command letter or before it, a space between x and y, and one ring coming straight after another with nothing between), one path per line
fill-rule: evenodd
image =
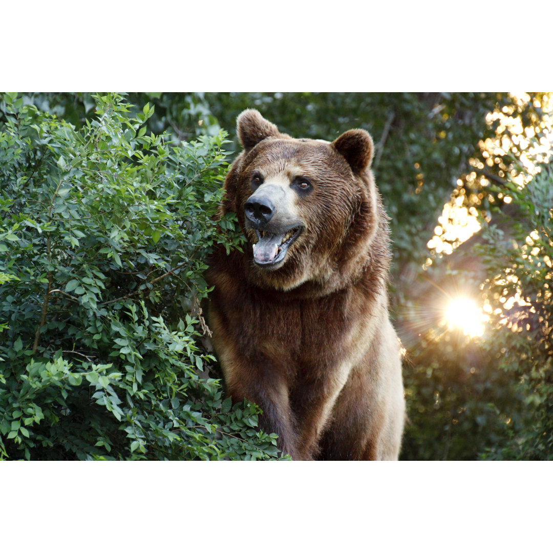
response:
M202 277L225 133L173 144L122 96L82 126L0 96L0 457L279 458L259 408L232 406Z

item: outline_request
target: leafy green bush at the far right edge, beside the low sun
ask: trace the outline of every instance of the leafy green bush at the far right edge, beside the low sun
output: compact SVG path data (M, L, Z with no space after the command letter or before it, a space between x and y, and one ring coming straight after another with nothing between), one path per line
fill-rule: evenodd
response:
M524 187L509 182L511 236L504 241L495 225L479 248L486 264L484 300L499 335L499 369L514 375L524 395L526 421L486 458L553 459L553 171L549 165Z

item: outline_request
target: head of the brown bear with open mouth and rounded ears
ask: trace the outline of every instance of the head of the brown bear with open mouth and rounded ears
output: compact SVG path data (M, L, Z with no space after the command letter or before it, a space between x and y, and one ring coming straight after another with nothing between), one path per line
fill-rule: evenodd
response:
M333 142L280 133L255 109L237 119L243 152L225 181L222 212L236 212L248 241L248 278L263 288L345 287L389 265L387 217L362 129Z

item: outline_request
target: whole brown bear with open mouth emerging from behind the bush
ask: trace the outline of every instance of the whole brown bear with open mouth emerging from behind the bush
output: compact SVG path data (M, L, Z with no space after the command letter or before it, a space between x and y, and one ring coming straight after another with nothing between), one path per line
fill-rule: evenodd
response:
M225 180L244 252L210 260L208 324L233 401L295 460L394 460L405 401L388 315L388 217L371 136L294 139L254 109Z

